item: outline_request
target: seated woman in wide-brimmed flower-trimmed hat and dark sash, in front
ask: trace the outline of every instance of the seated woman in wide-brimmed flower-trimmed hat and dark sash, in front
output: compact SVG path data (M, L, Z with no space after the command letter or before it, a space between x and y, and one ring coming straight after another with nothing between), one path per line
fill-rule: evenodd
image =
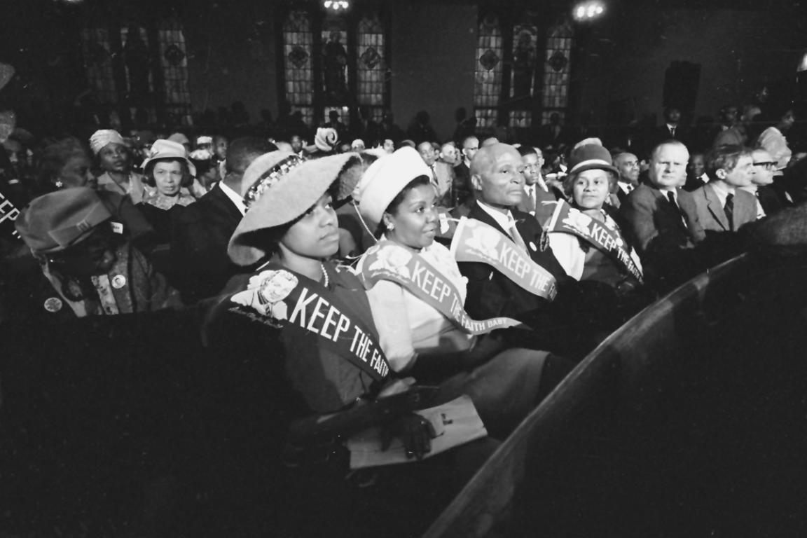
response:
M374 471L374 486L364 473L345 477L342 436L382 427L399 436L408 457L420 458L434 434L407 404L416 394L410 382L391 380L362 282L328 261L339 246L332 186L357 158L325 156L293 168L278 163L259 174L266 189L255 189L259 197L228 252L239 265L269 261L248 286L216 304L207 324L207 340L221 350L214 354L222 371L215 384L219 393L230 387L223 406L237 414L223 420L228 433L221 439L243 439L259 453L256 465L268 474L261 482L278 495L272 513L299 517L274 523L290 525L290 536L409 535L412 523L422 531L440 506L430 497L446 492L441 465L450 462L449 482L458 486L495 446L483 437L423 464L383 466ZM232 448L247 450L243 444ZM249 465L256 457L240 459ZM438 474L444 482L434 482ZM406 483L416 486L415 497L391 502L402 490L412 493Z

